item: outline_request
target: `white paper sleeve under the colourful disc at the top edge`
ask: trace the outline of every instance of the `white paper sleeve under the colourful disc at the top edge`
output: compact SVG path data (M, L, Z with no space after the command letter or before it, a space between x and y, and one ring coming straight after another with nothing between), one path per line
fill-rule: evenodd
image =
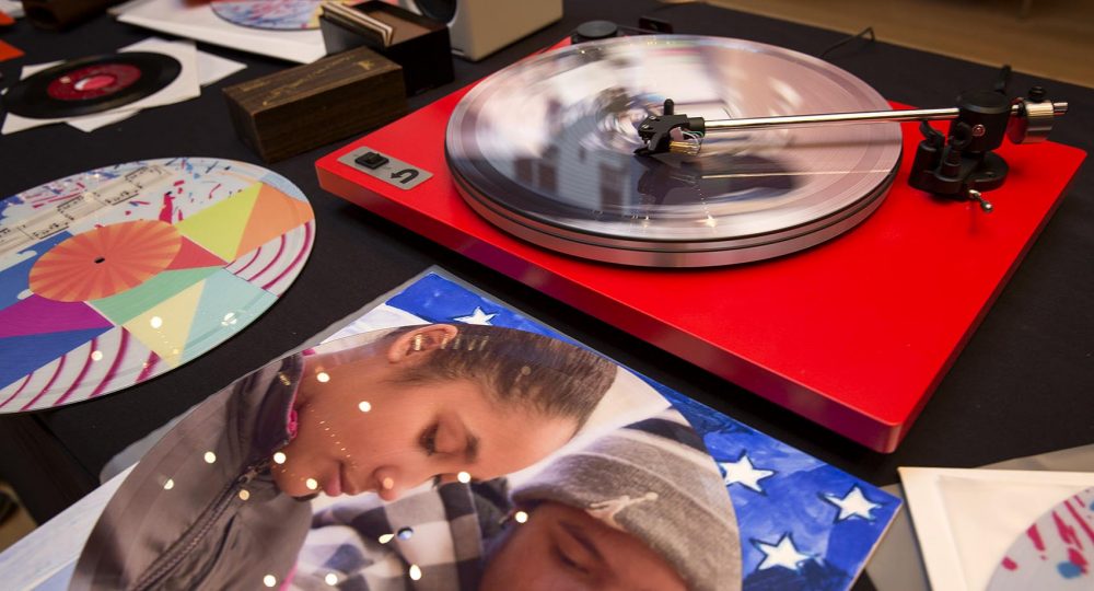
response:
M124 23L264 56L311 63L326 55L323 34L312 31L267 31L232 24L208 4L186 0L148 0L118 15Z

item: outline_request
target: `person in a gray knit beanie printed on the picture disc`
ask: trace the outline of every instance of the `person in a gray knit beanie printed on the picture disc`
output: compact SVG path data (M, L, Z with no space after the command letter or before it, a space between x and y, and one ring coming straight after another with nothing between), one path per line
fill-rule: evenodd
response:
M741 588L729 493L675 410L558 456L512 499L482 590Z

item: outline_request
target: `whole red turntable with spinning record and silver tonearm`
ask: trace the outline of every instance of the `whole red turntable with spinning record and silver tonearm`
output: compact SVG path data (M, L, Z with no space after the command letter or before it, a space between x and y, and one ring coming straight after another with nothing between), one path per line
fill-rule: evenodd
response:
M962 108L1020 120L1016 135L1054 116L1039 97L987 102ZM977 152L1003 130L975 120L943 135L769 119L888 108L779 47L627 37L511 66L316 167L340 197L891 452L1085 154Z

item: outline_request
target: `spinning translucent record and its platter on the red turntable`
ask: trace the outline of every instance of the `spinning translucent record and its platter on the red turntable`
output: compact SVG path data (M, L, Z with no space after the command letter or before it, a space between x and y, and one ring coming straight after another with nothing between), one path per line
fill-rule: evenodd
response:
M445 138L480 215L548 248L610 263L696 267L780 256L865 219L900 159L897 124L708 135L696 155L635 155L662 114L735 119L882 111L819 59L740 39L641 36L522 61L457 105Z

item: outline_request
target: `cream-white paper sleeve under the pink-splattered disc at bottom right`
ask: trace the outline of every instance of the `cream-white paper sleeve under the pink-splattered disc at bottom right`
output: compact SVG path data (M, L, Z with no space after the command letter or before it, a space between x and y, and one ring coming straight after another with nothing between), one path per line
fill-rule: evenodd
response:
M981 591L1041 514L1094 486L1094 473L901 467L900 482L935 591Z

